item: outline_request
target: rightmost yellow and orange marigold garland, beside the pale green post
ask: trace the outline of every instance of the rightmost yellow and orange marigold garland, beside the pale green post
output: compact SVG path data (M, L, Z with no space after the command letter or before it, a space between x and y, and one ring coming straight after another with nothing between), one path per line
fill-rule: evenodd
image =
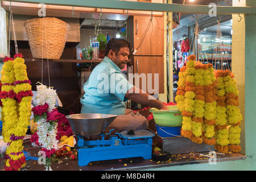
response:
M242 115L238 107L238 90L234 75L229 71L229 75L224 78L225 81L225 97L226 97L226 113L229 125L229 150L232 152L240 152L240 132L239 127Z

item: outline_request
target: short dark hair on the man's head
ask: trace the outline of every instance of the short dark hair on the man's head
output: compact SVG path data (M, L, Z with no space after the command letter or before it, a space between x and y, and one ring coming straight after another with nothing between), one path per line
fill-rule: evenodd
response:
M115 52L115 54L117 55L120 48L122 48L122 47L128 47L130 49L130 51L132 51L132 47L127 40L122 39L122 38L110 39L106 46L106 49L105 49L105 56L108 56L110 49L112 49Z

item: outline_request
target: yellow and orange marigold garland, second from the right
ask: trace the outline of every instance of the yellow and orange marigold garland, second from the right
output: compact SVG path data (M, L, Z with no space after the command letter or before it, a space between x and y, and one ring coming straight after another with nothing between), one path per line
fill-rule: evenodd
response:
M226 114L225 80L228 71L217 70L214 72L217 78L217 107L216 107L216 144L215 148L221 153L228 153L229 134Z

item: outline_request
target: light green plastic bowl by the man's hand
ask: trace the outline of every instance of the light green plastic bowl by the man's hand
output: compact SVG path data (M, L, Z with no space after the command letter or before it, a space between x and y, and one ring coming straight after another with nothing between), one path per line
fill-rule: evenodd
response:
M169 110L150 109L156 125L166 127L182 126L182 115L179 108L176 105L167 107Z

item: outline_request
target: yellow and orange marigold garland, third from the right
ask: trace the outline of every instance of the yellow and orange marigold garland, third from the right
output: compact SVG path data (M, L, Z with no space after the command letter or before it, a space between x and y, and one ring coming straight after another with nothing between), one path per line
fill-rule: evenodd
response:
M212 64L204 65L204 89L205 89L205 105L204 105L204 143L216 144L214 138L214 125L216 123L216 77Z

